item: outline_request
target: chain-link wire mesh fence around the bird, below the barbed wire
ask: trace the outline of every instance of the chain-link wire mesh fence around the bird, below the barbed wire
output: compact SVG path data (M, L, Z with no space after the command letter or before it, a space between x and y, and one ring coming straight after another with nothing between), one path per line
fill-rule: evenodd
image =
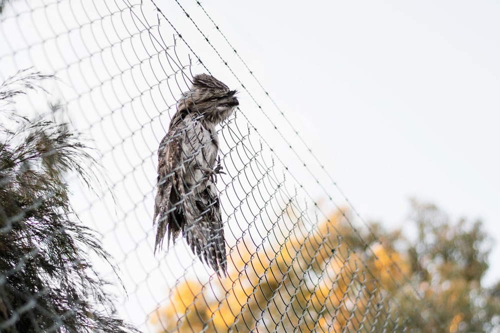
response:
M44 82L49 97L29 94L17 109L60 100L64 108L40 112L90 138L105 169L109 186L97 195L67 181L78 219L118 264L119 317L149 332L399 332L439 322L200 2L3 6L0 80L25 68L57 77ZM158 146L200 72L239 90L239 108L217 127L227 277L180 238L153 255ZM33 304L2 304L2 331L16 332L15 314Z

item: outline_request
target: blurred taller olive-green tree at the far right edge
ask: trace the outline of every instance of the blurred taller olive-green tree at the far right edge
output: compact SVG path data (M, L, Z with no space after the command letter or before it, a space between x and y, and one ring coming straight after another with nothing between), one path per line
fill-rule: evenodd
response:
M413 202L412 207L418 233L408 242L407 258L427 303L424 318L437 318L449 332L499 330L499 284L485 288L482 283L492 240L481 222L451 222L430 204ZM429 320L422 332L439 332L438 324Z

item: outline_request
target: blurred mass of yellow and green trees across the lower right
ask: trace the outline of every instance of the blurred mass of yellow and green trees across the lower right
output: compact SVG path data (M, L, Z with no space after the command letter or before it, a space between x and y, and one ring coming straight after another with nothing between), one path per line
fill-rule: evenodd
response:
M152 323L158 332L500 329L500 284L481 285L490 242L480 222L450 223L435 206L412 202L415 239L372 223L374 240L348 215L314 225L288 210L287 237L265 251L239 242L227 279L179 282Z

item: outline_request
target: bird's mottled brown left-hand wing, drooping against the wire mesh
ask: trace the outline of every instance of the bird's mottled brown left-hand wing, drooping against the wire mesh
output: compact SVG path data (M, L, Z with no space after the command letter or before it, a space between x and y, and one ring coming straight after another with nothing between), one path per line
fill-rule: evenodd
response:
M153 223L158 221L155 250L165 233L173 240L180 230L200 256L209 231L199 223L195 197L203 188L200 166L202 148L207 143L206 129L190 116L173 123L158 149L158 189ZM194 247L194 248L193 248Z

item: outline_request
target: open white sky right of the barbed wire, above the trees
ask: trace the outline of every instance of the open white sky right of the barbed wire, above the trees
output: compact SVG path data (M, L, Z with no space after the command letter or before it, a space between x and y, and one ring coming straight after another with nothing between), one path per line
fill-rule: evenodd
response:
M363 218L416 197L500 240L500 2L202 4Z

